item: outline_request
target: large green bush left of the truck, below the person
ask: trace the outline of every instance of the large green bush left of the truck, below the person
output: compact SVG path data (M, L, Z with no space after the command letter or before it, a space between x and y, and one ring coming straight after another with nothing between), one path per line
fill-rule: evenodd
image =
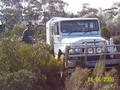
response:
M60 67L61 62L49 54L45 43L27 45L9 38L0 44L2 90L53 89L61 82L58 74ZM50 81L51 78L54 80Z

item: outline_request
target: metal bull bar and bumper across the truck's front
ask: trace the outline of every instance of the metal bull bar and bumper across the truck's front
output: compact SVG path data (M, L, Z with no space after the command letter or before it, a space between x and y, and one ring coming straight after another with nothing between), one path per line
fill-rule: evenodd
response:
M103 48L101 53L97 53L97 48ZM79 54L71 54L69 50L71 49L80 49L82 50ZM93 53L88 53L88 48L93 49ZM105 66L112 66L120 64L120 45L87 45L87 42L83 46L78 47L66 47L66 67L76 67L85 64L87 67L95 67L95 64L98 60L105 60ZM78 63L79 62L79 63Z

